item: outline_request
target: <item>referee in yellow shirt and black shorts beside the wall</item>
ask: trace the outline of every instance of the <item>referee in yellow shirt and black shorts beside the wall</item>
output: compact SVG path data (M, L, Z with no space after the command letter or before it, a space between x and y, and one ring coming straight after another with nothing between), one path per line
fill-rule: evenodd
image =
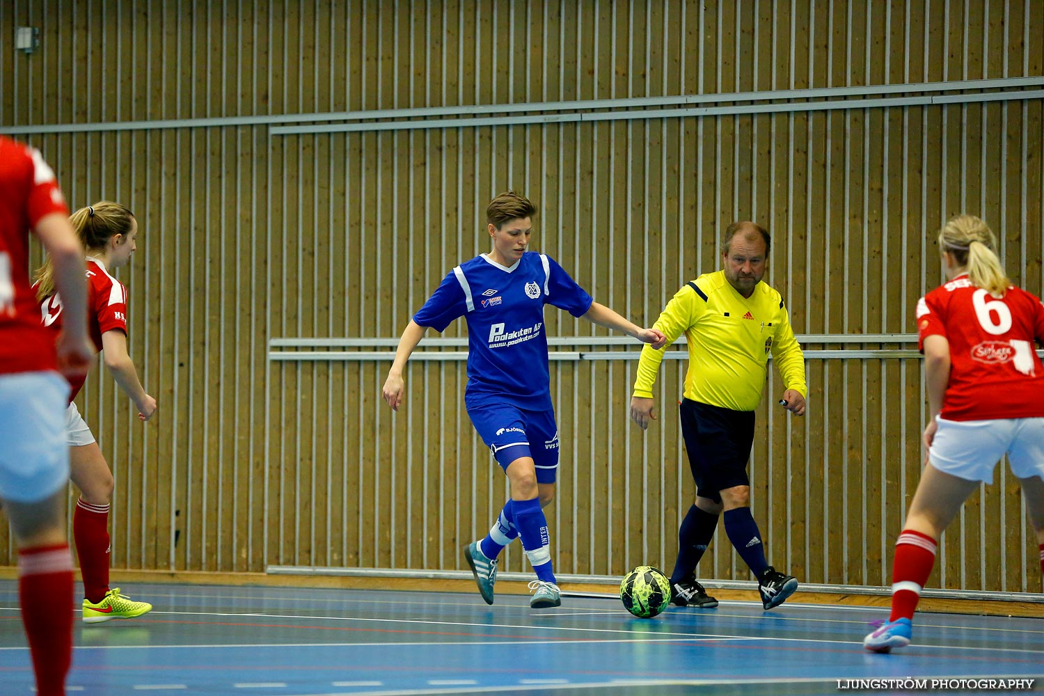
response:
M754 409L761 401L769 353L786 385L780 400L784 408L804 415L808 391L805 358L783 298L761 282L770 242L754 222L730 224L722 240L723 270L686 283L654 325L668 343L683 333L689 343L681 415L696 502L679 530L670 576L671 601L679 606L717 606L696 582L695 569L722 510L729 541L758 578L762 605L778 606L798 589L798 580L765 560L761 532L751 515L746 475ZM631 417L642 430L656 419L652 384L662 360L661 351L642 349L631 399Z

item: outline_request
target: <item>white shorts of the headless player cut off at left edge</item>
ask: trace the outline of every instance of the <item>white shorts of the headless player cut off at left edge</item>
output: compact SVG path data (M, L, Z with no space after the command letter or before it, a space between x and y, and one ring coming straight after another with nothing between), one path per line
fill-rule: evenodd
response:
M0 375L0 498L35 503L69 482L68 399L57 373Z

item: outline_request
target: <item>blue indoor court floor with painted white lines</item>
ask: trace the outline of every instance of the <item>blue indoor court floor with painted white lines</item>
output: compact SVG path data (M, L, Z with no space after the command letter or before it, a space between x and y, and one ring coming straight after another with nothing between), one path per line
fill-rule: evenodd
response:
M1044 618L921 614L914 644L880 655L861 645L879 607L723 601L642 620L594 596L538 611L520 595L124 590L155 609L77 621L70 694L837 694L849 679L1015 677L1044 691ZM17 583L0 581L4 695L32 693L24 646Z

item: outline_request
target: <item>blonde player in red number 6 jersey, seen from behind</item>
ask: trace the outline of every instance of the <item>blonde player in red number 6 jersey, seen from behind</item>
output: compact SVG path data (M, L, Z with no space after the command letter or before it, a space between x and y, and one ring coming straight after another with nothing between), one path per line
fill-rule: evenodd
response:
M1044 306L1012 286L987 224L970 215L939 233L947 283L918 303L931 415L927 463L896 542L892 616L863 640L875 652L908 645L939 536L1007 455L1037 531L1044 573Z

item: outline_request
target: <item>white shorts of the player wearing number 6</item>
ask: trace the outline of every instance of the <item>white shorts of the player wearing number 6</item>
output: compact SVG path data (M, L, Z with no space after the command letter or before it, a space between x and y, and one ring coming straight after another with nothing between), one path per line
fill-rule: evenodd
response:
M1044 418L936 421L928 460L939 471L990 483L994 467L1006 454L1018 478L1044 478Z

